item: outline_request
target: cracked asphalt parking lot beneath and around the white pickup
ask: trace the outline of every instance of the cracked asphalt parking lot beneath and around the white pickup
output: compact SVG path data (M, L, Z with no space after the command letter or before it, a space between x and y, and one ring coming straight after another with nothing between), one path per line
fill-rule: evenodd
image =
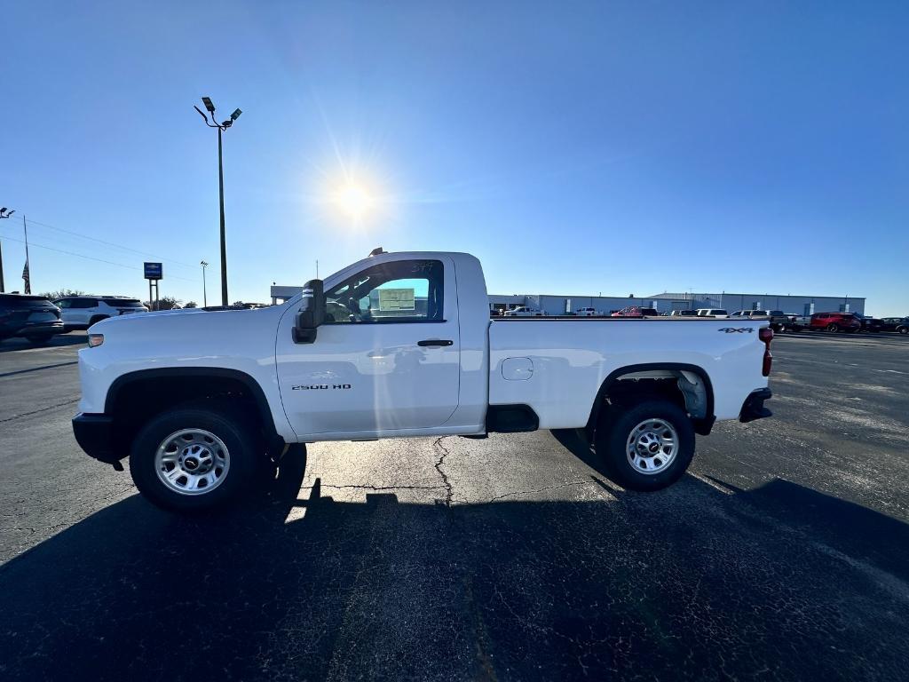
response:
M334 443L158 511L0 345L0 678L906 679L909 339L774 341L774 417L627 493L571 433Z

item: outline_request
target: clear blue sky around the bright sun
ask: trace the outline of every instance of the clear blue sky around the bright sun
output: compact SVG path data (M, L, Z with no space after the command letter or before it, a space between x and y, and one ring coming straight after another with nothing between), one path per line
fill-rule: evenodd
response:
M909 315L905 3L19 3L0 204L36 290L231 300L388 250L494 293L867 296ZM354 220L348 179L375 197ZM94 237L125 248L53 229ZM7 290L21 220L0 222ZM130 250L127 250L130 249ZM143 252L143 253L136 253ZM179 278L178 278L179 277Z

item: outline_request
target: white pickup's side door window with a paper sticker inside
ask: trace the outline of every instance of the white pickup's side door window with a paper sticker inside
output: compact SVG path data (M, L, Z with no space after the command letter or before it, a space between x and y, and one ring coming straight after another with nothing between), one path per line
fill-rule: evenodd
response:
M445 269L438 260L369 267L325 292L325 322L444 322L444 281Z

